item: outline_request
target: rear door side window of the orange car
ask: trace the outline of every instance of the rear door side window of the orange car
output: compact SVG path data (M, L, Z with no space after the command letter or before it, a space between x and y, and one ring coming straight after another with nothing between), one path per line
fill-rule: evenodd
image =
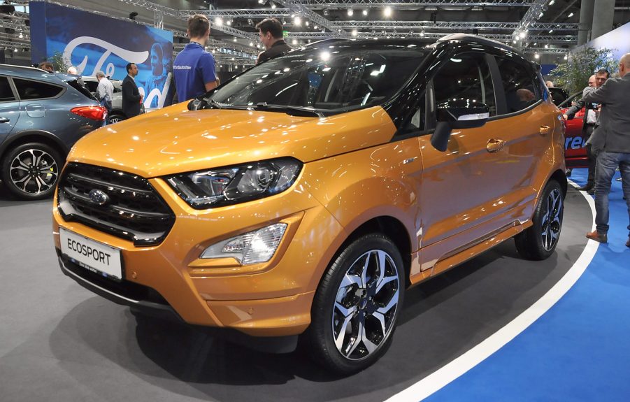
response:
M534 72L529 66L500 57L496 58L496 64L501 71L508 113L518 112L538 101Z

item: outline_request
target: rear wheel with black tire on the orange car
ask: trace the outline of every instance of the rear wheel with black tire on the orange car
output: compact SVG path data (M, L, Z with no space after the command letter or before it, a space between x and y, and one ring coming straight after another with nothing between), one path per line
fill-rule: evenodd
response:
M533 260L549 257L558 244L563 215L564 194L559 183L550 180L536 203L534 224L514 238L521 257Z

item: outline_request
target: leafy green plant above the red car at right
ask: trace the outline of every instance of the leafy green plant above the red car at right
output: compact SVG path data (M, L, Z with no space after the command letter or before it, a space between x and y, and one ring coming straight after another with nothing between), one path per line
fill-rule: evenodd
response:
M549 75L554 77L557 87L564 87L573 94L584 89L589 77L597 70L606 69L612 74L617 71L618 64L610 49L584 48L571 54L568 62L558 64Z

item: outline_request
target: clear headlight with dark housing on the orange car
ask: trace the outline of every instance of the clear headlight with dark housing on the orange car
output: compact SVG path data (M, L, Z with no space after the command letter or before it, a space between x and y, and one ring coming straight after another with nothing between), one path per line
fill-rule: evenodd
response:
M293 158L271 159L174 175L166 182L189 206L205 209L283 192L295 182L301 168L302 163Z

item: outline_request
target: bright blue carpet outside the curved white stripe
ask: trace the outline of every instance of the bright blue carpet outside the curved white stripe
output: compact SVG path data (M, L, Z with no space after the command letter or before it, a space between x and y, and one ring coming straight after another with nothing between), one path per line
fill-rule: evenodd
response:
M571 180L583 185L586 173L574 169ZM621 182L613 180L609 243L564 297L425 401L630 401L630 248L622 198Z

